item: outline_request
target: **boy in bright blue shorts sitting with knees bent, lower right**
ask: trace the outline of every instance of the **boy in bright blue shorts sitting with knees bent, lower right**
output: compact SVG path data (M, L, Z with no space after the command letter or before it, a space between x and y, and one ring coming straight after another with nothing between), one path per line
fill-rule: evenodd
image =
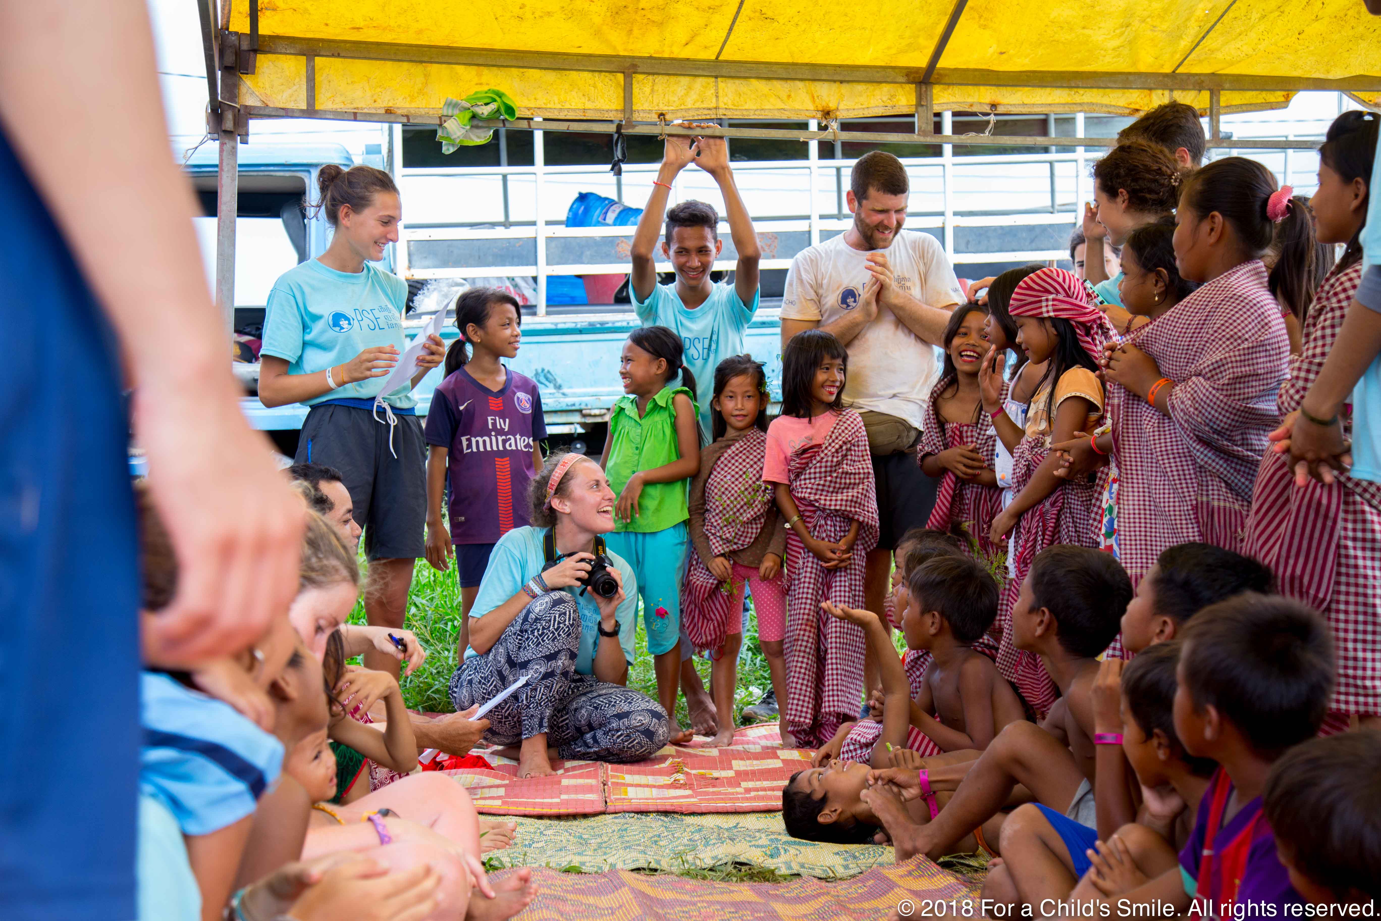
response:
M1076 900L1114 896L1175 867L1208 777L1218 768L1186 754L1175 736L1178 663L1179 643L1157 643L1130 661L1121 675L1117 747L1145 791L1138 822L1103 842L1092 828L1048 806L1016 809L1003 826L1003 863L989 870L985 899L1012 904L1015 911L1021 903L1063 900L1072 889ZM1103 747L1114 746L1109 740Z

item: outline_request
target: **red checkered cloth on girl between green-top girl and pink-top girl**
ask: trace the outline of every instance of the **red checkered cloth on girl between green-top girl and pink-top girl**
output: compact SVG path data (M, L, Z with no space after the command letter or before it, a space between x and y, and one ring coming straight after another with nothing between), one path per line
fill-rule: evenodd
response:
M768 436L757 428L740 435L714 461L704 482L704 536L710 551L726 555L758 539L772 505L772 486L762 481ZM700 554L688 554L681 587L681 619L696 649L718 649L729 634L732 592L715 579Z

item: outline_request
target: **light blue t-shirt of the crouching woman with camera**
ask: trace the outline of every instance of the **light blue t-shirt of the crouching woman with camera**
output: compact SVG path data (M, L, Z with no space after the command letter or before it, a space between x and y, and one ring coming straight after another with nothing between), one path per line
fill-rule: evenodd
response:
M522 591L523 584L541 572L547 558L541 550L545 527L515 527L494 544L489 554L489 568L479 583L479 594L475 595L475 605L470 609L471 620L483 617L490 610L504 603ZM632 568L624 562L623 556L609 552L615 566L623 576L623 587L627 598L615 612L619 621L619 645L623 646L623 657L632 664L632 637L638 620L638 592ZM576 599L580 609L580 652L576 653L576 671L581 675L594 674L595 648L603 639L599 635L599 606L590 592L580 594L584 585L566 588ZM478 656L474 648L465 648L465 659Z

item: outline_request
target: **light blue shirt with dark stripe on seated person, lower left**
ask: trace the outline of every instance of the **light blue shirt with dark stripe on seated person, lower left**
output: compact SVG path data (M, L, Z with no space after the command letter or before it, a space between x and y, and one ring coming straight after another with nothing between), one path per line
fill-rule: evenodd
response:
M283 743L163 672L139 672L139 793L171 812L182 834L235 824L278 783Z

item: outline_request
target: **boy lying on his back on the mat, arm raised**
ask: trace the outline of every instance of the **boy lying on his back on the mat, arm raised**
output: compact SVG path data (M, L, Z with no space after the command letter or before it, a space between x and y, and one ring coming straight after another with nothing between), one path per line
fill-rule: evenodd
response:
M884 750L891 746L895 750L891 754L905 758L909 765L907 772L911 776L917 775L914 766L917 764L925 764L928 768L956 766L963 770L963 764L971 761L976 753L953 753L921 762L914 753L900 748L900 740L906 736L910 719L911 688L902 668L902 660L898 657L878 616L869 610L838 608L829 602L824 603L824 610L833 617L858 624L863 630L869 646L878 656L887 701L882 714L882 737L878 744ZM786 823L787 834L804 841L830 841L834 844L873 841L880 830L880 822L860 797L869 775L867 765L840 759L795 772L782 791L782 819ZM914 811L914 822L927 822L938 811L938 804L934 797L924 801L917 797L910 808ZM989 831L994 837L997 827L994 823ZM969 851L976 849L978 844L974 838L968 838L967 842Z

